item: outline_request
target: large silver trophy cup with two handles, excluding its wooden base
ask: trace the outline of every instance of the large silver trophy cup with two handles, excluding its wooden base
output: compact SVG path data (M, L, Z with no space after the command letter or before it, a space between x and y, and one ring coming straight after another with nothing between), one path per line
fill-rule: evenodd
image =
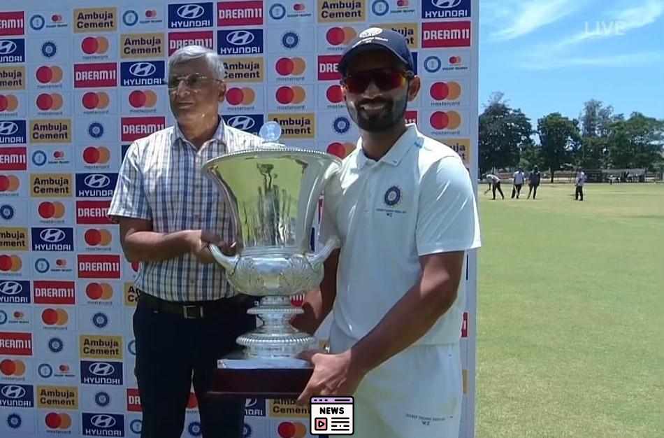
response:
M291 297L319 287L323 262L339 246L333 238L317 253L310 250L312 224L324 185L341 160L328 153L287 148L276 143L276 122L261 128L263 148L222 155L203 171L226 194L235 224L236 255L210 245L226 278L238 291L261 297L248 313L262 321L238 337L244 358L294 358L315 338L289 320L303 310Z

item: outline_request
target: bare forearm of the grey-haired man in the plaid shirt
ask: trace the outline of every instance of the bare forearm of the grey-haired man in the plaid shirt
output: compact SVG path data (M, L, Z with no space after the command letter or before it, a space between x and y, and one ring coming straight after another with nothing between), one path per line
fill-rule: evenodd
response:
M172 233L137 231L124 239L122 248L130 262L161 262L192 250L195 231L184 230Z

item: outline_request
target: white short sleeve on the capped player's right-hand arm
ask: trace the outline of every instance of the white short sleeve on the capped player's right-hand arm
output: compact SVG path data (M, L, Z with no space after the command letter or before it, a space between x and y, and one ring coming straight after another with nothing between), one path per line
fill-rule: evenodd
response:
M417 253L479 248L479 217L470 175L459 157L431 166L420 183Z

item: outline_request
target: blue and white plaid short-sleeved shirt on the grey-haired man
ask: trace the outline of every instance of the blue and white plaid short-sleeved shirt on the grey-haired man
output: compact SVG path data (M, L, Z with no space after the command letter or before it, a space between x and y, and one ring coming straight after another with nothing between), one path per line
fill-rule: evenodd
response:
M230 242L231 210L224 193L203 175L202 165L219 155L259 148L261 139L224 125L199 150L177 124L135 141L127 150L108 216L152 221L154 232L207 229ZM187 253L161 262L142 262L136 287L168 301L205 301L235 291L217 263L201 264Z

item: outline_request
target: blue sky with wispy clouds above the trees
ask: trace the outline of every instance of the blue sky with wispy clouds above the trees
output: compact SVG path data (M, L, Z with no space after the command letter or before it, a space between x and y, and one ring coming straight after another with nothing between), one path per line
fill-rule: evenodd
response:
M533 127L599 99L664 119L664 0L480 0L479 111L494 91Z

